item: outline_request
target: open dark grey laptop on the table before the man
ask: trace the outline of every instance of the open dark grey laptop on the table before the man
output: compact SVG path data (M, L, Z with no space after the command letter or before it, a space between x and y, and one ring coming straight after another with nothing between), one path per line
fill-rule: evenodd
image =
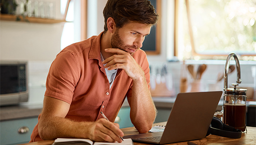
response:
M148 132L123 138L153 144L203 139L221 95L222 91L179 93L163 132Z

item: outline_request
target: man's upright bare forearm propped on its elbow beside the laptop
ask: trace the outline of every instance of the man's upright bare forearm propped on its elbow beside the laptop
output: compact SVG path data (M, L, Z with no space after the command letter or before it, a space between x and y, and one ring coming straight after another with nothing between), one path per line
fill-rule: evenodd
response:
M156 117L156 108L147 88L145 77L133 81L131 121L140 133L148 132Z

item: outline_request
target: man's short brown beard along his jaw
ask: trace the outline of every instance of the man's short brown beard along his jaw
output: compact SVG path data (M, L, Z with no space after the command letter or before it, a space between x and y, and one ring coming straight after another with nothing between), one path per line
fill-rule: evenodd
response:
M129 52L128 51L129 49L133 49L133 50L136 50L136 51L139 49L139 47L137 47L135 45L127 45L127 44L125 44L124 41L122 41L120 36L119 36L118 29L112 35L110 43L111 43L112 48L118 48L118 49L124 50L124 51L130 53L131 56L133 56L134 53Z

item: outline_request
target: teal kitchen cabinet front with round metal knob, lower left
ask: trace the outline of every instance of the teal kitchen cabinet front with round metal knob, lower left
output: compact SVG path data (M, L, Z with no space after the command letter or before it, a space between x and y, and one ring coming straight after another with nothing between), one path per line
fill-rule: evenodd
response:
M0 145L17 145L30 141L38 117L0 121Z

